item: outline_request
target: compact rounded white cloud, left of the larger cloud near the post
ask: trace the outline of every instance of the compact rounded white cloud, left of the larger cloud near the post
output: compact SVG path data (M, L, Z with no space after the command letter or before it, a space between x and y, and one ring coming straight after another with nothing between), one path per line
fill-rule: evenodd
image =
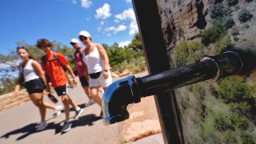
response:
M106 19L110 18L110 5L108 3L104 3L104 5L96 10L95 18L97 19Z

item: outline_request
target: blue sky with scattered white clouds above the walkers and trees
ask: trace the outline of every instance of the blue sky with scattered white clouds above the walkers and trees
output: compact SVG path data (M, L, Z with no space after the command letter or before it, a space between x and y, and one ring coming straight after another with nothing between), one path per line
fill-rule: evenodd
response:
M1 0L0 18L0 54L38 38L69 46L81 30L93 42L124 46L138 32L131 0Z

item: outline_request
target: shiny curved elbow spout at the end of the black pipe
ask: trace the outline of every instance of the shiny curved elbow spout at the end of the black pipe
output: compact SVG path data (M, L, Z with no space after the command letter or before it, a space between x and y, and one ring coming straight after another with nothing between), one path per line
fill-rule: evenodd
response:
M134 75L113 82L105 91L102 98L104 124L112 124L129 118L126 106L140 102L138 82Z

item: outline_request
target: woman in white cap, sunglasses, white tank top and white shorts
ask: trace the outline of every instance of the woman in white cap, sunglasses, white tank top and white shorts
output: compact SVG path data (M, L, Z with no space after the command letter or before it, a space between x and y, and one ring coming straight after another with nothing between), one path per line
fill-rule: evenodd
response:
M81 31L79 39L86 46L82 58L88 70L87 78L89 78L91 96L99 106L102 106L102 100L98 97L98 88L102 87L106 90L112 83L108 55L101 44L92 43L92 38L87 31Z

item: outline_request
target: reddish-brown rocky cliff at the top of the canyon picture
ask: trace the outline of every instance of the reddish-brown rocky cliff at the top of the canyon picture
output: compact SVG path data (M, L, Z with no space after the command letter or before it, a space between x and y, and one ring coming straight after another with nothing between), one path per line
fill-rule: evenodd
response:
M167 50L176 46L179 38L192 40L199 38L206 27L206 14L215 0L168 1L158 0L162 18L162 31Z

